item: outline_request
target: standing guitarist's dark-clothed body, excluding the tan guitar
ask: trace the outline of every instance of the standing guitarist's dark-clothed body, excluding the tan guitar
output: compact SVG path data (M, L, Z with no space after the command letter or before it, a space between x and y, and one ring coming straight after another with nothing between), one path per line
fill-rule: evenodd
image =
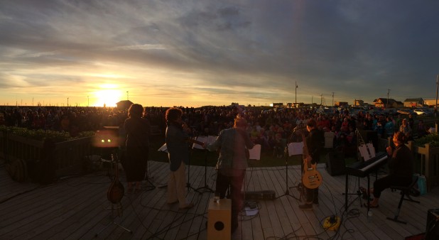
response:
M306 124L306 130L309 132L305 138L306 146L308 147L308 153L310 156L305 158L304 163L310 161L312 164L318 163L320 160L320 154L325 144L325 138L323 138L322 131L317 129L317 123L314 119L309 119ZM302 164L304 164L302 163ZM304 166L302 165L302 169ZM300 209L313 209L313 204L318 205L318 187L309 189L305 186L305 202L299 205Z

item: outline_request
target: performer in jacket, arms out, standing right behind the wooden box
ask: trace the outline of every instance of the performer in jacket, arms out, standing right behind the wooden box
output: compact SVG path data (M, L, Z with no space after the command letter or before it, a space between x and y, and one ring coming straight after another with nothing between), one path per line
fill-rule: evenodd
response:
M246 126L246 119L237 116L234 119L233 128L222 130L215 142L205 143L203 146L209 151L217 151L221 148L217 162L218 175L215 195L219 194L220 198L224 198L227 188L230 187L232 233L238 227L238 214L242 206L241 188L247 168L246 151L254 146L246 133Z

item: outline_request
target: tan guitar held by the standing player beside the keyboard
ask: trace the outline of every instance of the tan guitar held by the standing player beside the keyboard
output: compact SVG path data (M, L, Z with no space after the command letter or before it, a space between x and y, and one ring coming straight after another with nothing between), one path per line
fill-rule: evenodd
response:
M317 163L312 164L310 161L305 159L310 156L308 153L308 146L306 145L305 133L300 131L303 140L303 173L302 173L302 183L305 187L309 189L315 189L322 184L322 175L317 170Z

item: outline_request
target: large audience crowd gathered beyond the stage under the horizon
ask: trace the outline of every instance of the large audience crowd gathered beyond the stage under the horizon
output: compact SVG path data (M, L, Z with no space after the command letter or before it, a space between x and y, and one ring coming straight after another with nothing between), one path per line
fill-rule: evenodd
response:
M376 131L379 138L393 136L403 131L408 139L428 134L428 126L420 120L416 126L411 115L374 115L361 111L352 116L349 111L318 113L314 109L262 110L259 107L179 107L183 121L192 129L193 136L217 135L222 129L233 126L234 117L241 114L248 121L247 132L254 143L261 144L263 151L273 151L278 157L283 148L301 136L292 134L300 124L315 119L321 131L334 133L334 147L356 146L355 131ZM165 107L145 107L144 118L162 133L166 129ZM2 107L0 125L19 126L27 129L66 131L71 136L81 131L98 131L104 126L123 126L127 111L103 107ZM404 120L405 119L405 120Z

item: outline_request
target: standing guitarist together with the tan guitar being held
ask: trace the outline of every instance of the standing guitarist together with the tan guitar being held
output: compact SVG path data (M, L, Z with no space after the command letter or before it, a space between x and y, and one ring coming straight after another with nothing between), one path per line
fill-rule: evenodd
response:
M305 202L299 204L300 209L313 209L313 204L318 205L318 186L322 177L315 166L320 160L320 154L323 149L325 138L323 132L317 129L317 123L314 119L309 119L306 124L306 130L309 132L305 138L303 136L303 187L305 188ZM307 171L312 172L309 174ZM313 178L307 177L312 175Z

